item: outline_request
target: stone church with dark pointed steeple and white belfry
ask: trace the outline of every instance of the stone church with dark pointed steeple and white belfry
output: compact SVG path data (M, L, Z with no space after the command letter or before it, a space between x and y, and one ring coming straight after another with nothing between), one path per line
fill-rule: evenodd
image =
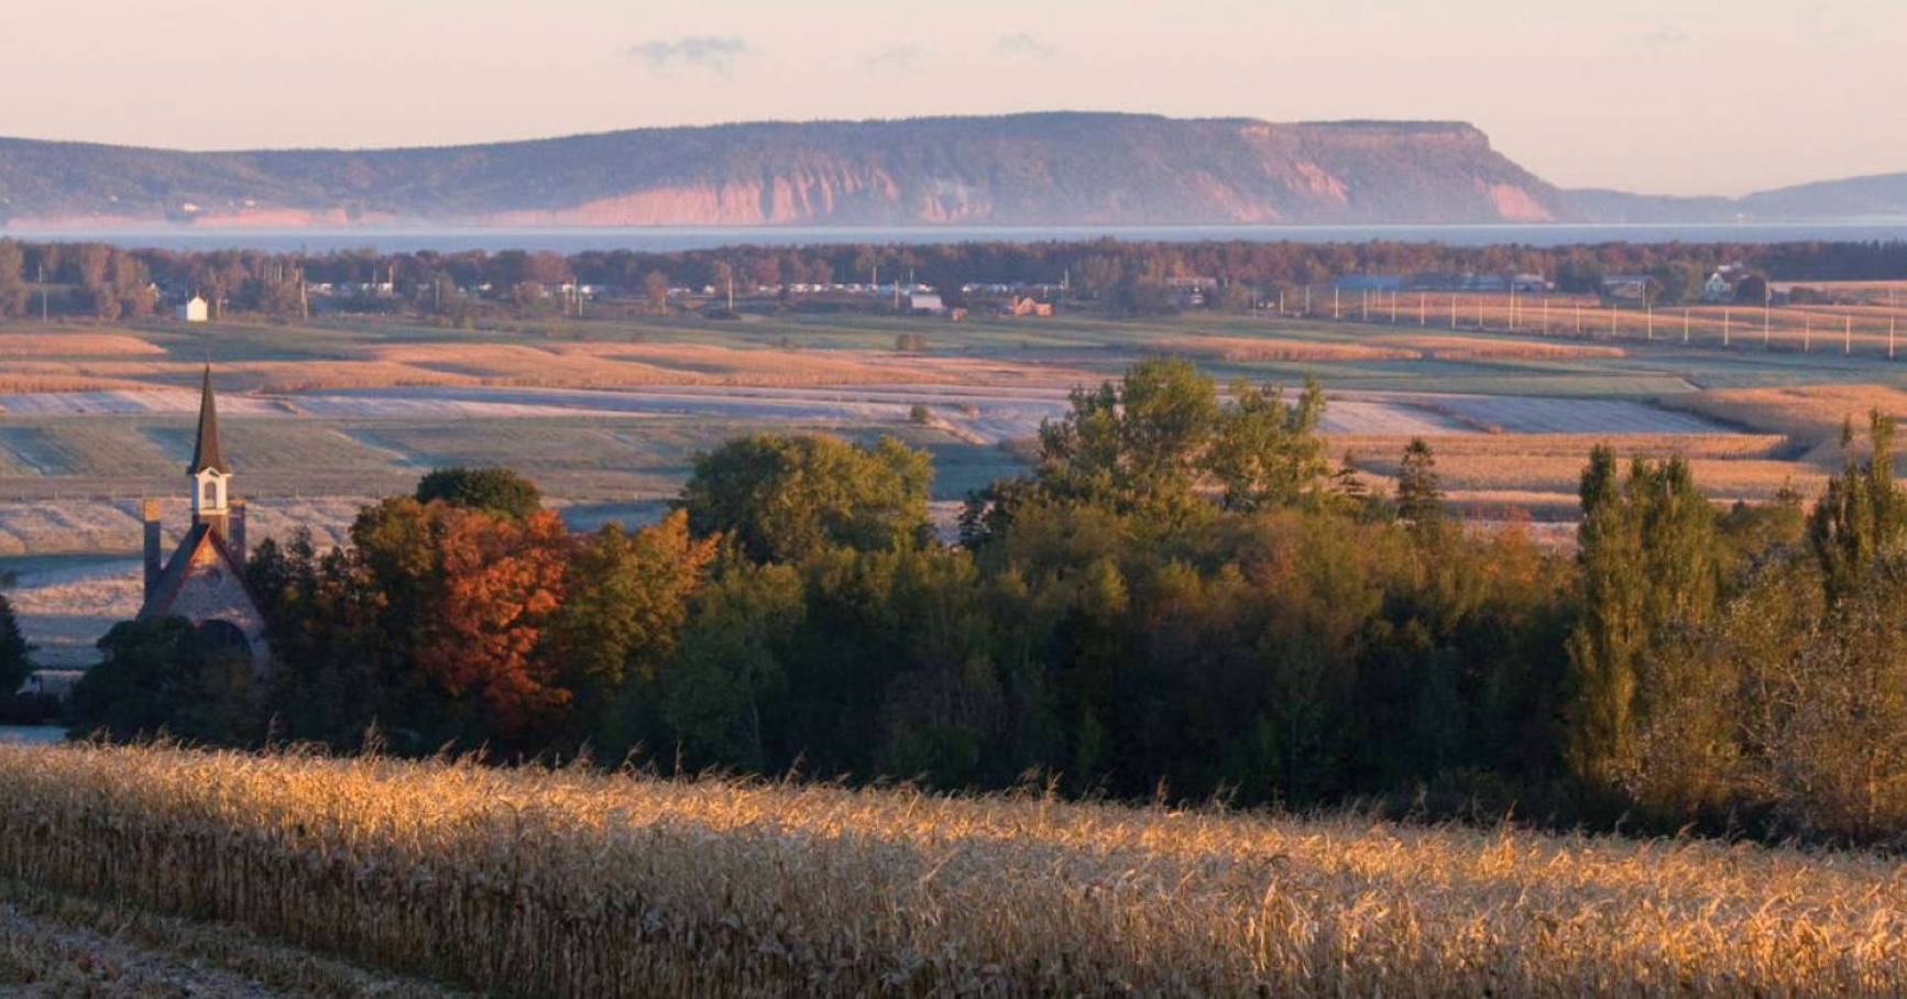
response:
M212 366L198 398L198 438L185 467L193 480L193 524L160 561L158 500L145 501L145 602L139 618L185 618L212 648L236 648L252 667L271 665L265 614L244 581L244 500L231 498L233 469L219 448L219 408Z

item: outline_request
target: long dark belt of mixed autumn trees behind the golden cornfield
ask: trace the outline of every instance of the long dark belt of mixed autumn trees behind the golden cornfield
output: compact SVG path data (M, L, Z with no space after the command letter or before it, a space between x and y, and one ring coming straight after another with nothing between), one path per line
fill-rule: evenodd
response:
M114 738L1907 833L1888 419L1812 513L1598 448L1558 555L1446 511L1421 440L1367 488L1323 404L1142 362L1076 391L957 543L896 440L744 437L660 522L595 532L446 469L339 549L259 545L269 675L132 622L74 711Z

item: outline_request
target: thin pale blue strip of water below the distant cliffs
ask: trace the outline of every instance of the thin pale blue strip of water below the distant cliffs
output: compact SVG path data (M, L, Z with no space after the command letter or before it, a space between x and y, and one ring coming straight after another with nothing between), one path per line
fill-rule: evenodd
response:
M311 252L378 250L635 250L666 254L717 246L816 246L816 244L934 244L934 242L1079 242L1112 236L1127 242L1442 242L1451 246L1573 246L1598 242L1892 242L1907 240L1907 219L1863 223L1665 223L1665 225L1158 225L1158 227L578 227L578 229L481 229L481 227L353 227L353 229L6 229L0 236L32 242L111 242L166 250L265 250Z

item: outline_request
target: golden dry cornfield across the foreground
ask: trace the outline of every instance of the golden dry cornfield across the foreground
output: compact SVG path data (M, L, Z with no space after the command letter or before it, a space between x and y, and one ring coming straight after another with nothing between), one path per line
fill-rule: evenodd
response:
M513 995L1907 991L1878 854L0 747L0 875Z

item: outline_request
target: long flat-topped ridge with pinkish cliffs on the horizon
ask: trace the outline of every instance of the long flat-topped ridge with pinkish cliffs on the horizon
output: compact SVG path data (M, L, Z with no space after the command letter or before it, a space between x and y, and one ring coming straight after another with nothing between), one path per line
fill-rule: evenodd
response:
M1465 122L1039 112L242 153L0 139L0 223L17 227L1716 221L1863 191L1562 191Z

